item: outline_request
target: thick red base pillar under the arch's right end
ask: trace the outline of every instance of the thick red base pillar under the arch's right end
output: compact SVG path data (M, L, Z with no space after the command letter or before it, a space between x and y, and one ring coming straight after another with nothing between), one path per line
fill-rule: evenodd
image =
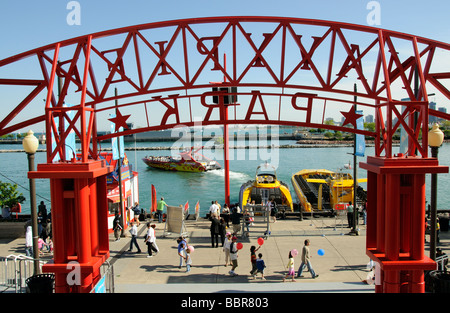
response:
M368 157L360 165L368 172L367 254L381 267L376 291L425 292L424 271L436 269L424 254L425 174L448 167L419 157Z

